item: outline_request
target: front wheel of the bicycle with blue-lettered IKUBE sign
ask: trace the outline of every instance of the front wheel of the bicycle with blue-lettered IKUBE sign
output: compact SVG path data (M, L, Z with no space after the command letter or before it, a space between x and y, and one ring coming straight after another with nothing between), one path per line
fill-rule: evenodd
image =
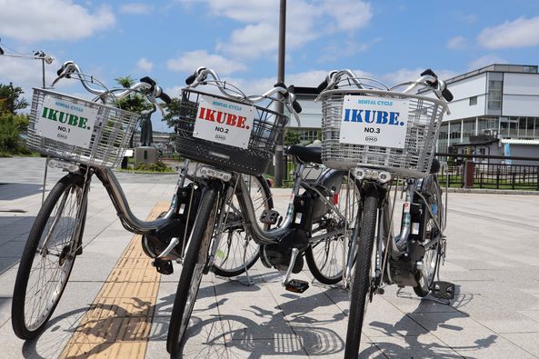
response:
M358 247L350 295L350 313L348 314L344 358L357 358L366 306L372 299L371 287L374 281L373 246L376 234L377 207L378 194L373 184L365 193L361 230L354 230L353 240ZM358 233L359 238L355 238Z

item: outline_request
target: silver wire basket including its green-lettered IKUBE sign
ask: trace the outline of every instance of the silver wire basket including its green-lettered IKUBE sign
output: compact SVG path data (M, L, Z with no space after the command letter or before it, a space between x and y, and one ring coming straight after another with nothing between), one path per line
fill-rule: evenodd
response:
M27 145L85 165L120 165L140 115L34 88Z

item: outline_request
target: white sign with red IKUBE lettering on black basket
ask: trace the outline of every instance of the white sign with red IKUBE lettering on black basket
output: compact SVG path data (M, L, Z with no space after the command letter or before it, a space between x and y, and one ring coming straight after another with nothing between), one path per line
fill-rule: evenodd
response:
M254 121L254 106L200 95L193 136L246 149Z

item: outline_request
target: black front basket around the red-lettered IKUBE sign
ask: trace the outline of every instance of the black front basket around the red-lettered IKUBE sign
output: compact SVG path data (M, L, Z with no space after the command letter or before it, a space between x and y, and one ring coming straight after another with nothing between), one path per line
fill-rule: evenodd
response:
M195 118L202 95L209 95L229 103L246 105L213 94L194 90L182 92L175 150L187 158L219 168L249 175L262 175L272 161L278 135L287 118L268 108L253 105L255 120L247 148L219 144L194 136Z

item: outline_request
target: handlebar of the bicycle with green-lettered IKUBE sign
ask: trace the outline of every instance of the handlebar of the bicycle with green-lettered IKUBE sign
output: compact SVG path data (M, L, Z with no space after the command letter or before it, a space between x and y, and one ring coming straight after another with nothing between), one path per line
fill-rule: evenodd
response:
M136 83L135 85L130 86L129 88L113 88L108 89L103 83L101 83L99 80L97 80L94 76L91 75L85 75L80 67L75 64L73 61L66 61L62 67L56 72L58 77L55 78L55 81L53 81L52 85L55 85L58 81L60 81L62 78L72 78L73 75L77 77L77 79L83 84L86 91L88 91L91 94L96 95L95 100L101 99L104 103L106 103L107 99L113 99L118 100L121 98L124 98L125 96L133 93L138 92L143 95L152 103L155 105L156 108L159 108L161 113L165 115L165 110L161 105L157 103L155 100L156 98L161 99L165 104L169 104L171 99L169 95L166 95L163 91L163 88L157 85L157 83L150 78L149 76L145 76L140 79L140 82ZM89 84L97 84L103 87L104 89L98 89L95 87L90 86Z

